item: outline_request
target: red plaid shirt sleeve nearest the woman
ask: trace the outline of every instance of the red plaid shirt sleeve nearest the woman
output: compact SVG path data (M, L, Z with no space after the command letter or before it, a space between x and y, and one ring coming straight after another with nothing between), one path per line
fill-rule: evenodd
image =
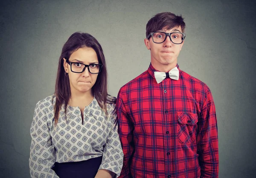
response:
M132 133L132 126L131 122L128 121L128 112L125 109L122 97L120 92L117 96L117 103L116 103L116 112L117 112L117 120L119 124L119 137L122 144L122 149L124 153L124 161L123 167L120 174L120 178L129 178L130 176L130 165L129 165L129 158L131 158L133 148L131 143L133 143L133 135Z

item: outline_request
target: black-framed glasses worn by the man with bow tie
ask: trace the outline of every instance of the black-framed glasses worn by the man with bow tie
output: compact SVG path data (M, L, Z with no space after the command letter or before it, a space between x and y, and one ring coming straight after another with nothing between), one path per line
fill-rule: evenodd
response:
M172 33L166 33L166 32L151 32L147 39L152 37L152 40L154 43L163 43L167 36L169 36L170 40L174 44L181 44L183 40L186 37L185 33L180 33L180 32L172 32Z

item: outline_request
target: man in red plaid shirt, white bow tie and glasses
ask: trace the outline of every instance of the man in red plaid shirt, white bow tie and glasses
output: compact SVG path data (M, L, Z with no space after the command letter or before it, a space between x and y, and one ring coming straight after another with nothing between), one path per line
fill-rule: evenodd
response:
M170 12L146 26L148 70L119 91L121 178L218 178L215 106L208 86L180 70L185 23Z

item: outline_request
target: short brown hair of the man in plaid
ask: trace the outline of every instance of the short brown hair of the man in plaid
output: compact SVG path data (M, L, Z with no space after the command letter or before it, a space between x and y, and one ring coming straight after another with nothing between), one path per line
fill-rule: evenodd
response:
M150 20L148 20L146 26L146 37L148 37L151 32L159 31L164 27L167 27L167 29L172 29L176 26L180 26L182 33L184 33L186 24L183 20L184 18L181 17L181 15L178 16L171 12L162 12L156 14Z

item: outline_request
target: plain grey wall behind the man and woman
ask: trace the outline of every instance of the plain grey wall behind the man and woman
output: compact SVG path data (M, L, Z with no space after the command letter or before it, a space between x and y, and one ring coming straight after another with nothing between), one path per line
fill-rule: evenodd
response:
M144 72L145 26L156 13L182 14L180 69L204 81L215 100L220 178L256 171L256 4L242 0L9 0L0 3L0 177L29 178L35 104L54 92L58 57L76 31L105 52L111 95Z

